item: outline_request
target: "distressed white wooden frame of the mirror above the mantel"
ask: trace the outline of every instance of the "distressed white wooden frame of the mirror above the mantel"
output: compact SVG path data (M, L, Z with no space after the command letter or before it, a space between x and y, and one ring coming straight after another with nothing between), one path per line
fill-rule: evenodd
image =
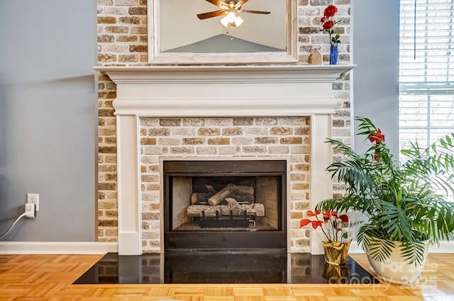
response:
M297 4L287 4L287 51L282 52L160 52L159 1L148 0L148 63L150 64L294 64L297 55Z

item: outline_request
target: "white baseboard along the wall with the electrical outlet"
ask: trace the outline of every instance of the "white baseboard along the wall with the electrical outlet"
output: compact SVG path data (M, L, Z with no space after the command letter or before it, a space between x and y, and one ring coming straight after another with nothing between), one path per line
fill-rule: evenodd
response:
M0 242L0 254L106 254L116 242Z

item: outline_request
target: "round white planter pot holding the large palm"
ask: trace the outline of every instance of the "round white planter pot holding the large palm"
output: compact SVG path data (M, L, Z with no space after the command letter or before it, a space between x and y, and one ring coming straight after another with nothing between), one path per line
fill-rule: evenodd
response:
M387 261L376 261L369 255L366 249L367 259L369 260L372 271L374 271L380 280L389 283L414 284L419 282L421 271L426 264L428 254L428 242L424 245L424 255L421 264L405 261L401 255L401 243L395 242L395 249L392 250L391 256Z

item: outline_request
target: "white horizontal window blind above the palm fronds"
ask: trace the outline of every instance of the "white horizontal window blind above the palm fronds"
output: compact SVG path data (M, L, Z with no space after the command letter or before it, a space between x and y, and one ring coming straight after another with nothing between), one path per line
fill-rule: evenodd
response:
M454 0L400 1L399 144L454 132Z

